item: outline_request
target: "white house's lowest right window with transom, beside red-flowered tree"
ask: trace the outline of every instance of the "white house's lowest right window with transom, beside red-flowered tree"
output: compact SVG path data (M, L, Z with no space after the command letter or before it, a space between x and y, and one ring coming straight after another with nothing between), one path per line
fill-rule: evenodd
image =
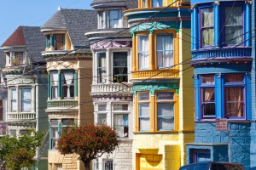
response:
M128 138L129 136L129 118L128 105L113 105L113 129L119 138Z

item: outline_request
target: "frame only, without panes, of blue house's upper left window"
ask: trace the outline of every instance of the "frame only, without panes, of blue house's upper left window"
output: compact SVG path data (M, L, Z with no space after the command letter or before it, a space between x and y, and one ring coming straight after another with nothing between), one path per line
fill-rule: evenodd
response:
M205 10L205 9L209 9L209 8L212 8L212 26L202 26L203 25L203 13L202 11ZM204 45L204 37L203 37L203 30L207 30L207 29L212 29L213 30L213 34L212 34L212 44L207 44L207 45ZM212 6L207 6L207 7L203 7L203 8L200 8L200 47L201 48L212 48L212 46L214 46L214 9Z

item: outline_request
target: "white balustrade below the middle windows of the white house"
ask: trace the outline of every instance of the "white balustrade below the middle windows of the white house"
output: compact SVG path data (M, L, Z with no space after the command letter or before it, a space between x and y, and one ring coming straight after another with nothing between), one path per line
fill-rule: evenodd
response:
M132 87L130 84L94 84L91 85L90 94L131 94Z

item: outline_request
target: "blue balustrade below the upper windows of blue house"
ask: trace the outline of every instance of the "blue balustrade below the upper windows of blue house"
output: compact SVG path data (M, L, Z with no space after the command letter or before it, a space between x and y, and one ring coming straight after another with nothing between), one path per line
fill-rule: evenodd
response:
M229 59L251 58L252 48L215 48L192 51L192 60L195 59Z

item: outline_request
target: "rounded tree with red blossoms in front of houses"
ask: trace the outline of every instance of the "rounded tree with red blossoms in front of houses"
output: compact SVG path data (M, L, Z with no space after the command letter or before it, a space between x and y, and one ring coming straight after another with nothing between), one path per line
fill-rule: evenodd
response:
M90 161L111 153L119 145L118 135L107 125L86 124L63 129L57 149L61 154L77 154L90 170Z

